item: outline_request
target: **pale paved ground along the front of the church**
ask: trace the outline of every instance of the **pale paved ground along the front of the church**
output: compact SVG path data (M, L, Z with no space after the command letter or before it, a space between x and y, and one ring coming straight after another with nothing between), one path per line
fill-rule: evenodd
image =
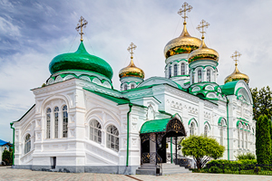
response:
M186 181L228 181L228 180L239 180L239 181L267 181L272 180L272 176L250 176L250 175L228 175L228 174L177 174L171 176L123 176L123 175L112 175L112 174L93 174L93 173L58 173L58 172L40 172L31 171L28 169L12 169L10 167L0 167L0 180L5 181L17 181L17 180L63 180L63 181L166 181L166 180L186 180Z

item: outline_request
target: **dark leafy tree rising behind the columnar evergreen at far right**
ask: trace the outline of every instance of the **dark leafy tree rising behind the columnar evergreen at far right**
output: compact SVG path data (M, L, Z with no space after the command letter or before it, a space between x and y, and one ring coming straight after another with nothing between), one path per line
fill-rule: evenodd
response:
M253 99L253 115L257 120L260 115L267 115L270 119L272 116L272 91L269 86L263 87L260 90L250 89Z

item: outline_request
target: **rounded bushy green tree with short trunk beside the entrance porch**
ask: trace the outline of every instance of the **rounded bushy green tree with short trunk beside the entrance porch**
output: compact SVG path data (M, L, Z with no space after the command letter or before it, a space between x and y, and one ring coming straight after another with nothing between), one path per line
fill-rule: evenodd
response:
M197 163L197 167L202 168L212 158L223 157L225 148L219 145L215 138L203 136L190 136L181 142L184 156L191 156Z

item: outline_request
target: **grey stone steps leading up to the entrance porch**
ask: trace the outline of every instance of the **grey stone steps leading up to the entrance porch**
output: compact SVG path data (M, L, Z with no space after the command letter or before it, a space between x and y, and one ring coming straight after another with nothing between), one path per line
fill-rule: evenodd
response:
M163 163L162 164L162 169L160 170L160 175L165 176L165 175L172 175L172 174L183 174L183 173L191 173L189 169L185 167L180 167L179 165L175 164L167 164ZM141 165L136 170L137 175L156 175L156 166L155 164L152 163L146 163Z

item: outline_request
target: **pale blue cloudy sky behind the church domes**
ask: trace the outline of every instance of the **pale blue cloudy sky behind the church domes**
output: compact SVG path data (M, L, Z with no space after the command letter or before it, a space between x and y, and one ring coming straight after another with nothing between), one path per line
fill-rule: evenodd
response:
M219 52L219 84L234 70L233 52L242 56L238 69L248 74L249 87L261 88L272 81L272 1L187 1L188 31L204 19L210 26L206 44ZM11 1L0 0L0 138L12 141L11 121L20 119L34 104L31 89L49 77L53 57L75 52L80 35L75 26L81 15L89 22L84 29L88 52L109 62L113 86L119 89L118 72L130 61L127 47L137 45L135 64L146 78L164 76L163 48L180 35L179 0Z

